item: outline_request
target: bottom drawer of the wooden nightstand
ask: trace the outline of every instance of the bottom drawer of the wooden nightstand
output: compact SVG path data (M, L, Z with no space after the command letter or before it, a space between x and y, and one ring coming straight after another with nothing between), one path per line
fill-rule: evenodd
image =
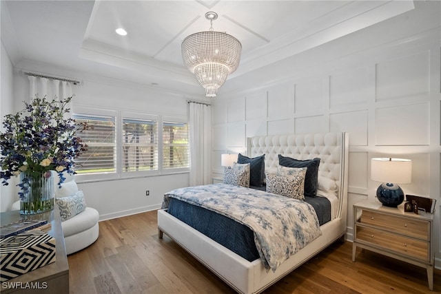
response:
M365 211L363 211L363 213L364 212ZM387 231L358 226L356 230L356 240L375 244L389 251L405 254L413 258L429 261L429 242L406 238Z

